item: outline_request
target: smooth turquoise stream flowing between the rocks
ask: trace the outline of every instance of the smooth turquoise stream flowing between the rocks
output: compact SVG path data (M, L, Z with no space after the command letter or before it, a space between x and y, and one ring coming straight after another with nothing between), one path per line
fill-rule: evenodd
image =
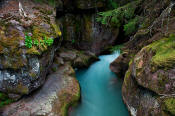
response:
M81 102L73 108L70 116L129 116L122 101L122 80L110 71L109 64L119 56L100 56L100 61L88 69L78 70L81 86Z

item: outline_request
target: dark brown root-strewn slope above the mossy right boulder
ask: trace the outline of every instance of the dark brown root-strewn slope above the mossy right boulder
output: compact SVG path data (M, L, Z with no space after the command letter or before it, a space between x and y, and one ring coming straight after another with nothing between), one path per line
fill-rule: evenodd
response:
M121 0L122 2L123 0ZM170 5L170 0L164 0L161 3L159 1L152 1L152 0L145 0L141 2L141 7L138 9L138 11L144 11L143 16L144 20L142 22L142 26L139 28L139 30L136 32L134 36L131 37L131 39L124 44L124 47L122 48L122 51L125 53L126 57L123 57L123 54L121 54L118 59L116 59L112 64L122 64L124 67L118 70L118 66L116 66L116 69L113 71L117 71L117 74L123 74L128 69L128 64L130 60L146 45L149 45L150 43L159 40L162 38L162 33L166 32L166 25L163 25L161 27L161 20L164 20L167 22L168 17L167 14L162 19L162 12L163 9L165 10L168 8L168 5ZM168 13L168 12L166 12ZM171 12L171 14L173 13ZM164 22L164 23L165 23ZM173 27L174 24L169 21L169 31L174 30ZM171 32L171 31L170 31ZM122 60L121 60L122 59ZM127 66L127 68L125 67Z

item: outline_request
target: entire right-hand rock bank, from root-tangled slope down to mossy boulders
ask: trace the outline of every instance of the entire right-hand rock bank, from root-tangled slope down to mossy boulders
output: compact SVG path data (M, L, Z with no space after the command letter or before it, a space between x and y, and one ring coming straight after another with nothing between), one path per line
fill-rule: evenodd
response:
M145 3L142 5L146 8L147 23L144 21L144 28L125 44L111 69L124 77L123 100L132 116L172 116L175 106L174 2L145 0ZM154 8L157 9L151 10ZM156 14L155 17L147 15L147 11ZM148 21L150 19L152 21Z

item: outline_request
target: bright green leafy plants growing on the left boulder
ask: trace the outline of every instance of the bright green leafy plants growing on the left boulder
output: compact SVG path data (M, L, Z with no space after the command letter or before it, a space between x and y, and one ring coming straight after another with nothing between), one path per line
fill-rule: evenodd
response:
M27 48L32 48L32 46L51 46L54 42L54 39L52 38L47 38L46 36L44 36L44 40L37 40L37 39L33 39L32 38L32 34L26 34L25 35L25 46Z

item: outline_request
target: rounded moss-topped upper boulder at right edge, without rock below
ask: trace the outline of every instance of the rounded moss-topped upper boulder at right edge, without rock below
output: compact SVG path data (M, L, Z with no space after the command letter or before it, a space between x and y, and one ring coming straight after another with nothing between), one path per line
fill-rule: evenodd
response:
M157 94L175 94L174 36L161 39L143 48L134 58L133 71L139 85ZM167 47L169 46L169 47ZM167 52L169 51L169 52Z

